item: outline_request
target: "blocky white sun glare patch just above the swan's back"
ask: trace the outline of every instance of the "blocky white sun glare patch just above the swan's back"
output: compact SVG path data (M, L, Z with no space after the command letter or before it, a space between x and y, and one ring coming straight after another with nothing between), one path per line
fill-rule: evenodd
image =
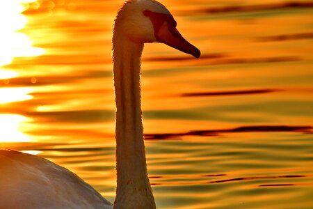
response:
M1 142L27 142L29 137L19 130L22 123L28 118L17 114L0 114L0 143Z

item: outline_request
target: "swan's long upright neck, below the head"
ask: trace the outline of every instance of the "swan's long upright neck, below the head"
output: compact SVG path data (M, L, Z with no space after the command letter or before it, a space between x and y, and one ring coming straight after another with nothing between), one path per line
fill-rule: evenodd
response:
M143 44L113 35L118 186L114 208L156 208L145 160L141 111Z

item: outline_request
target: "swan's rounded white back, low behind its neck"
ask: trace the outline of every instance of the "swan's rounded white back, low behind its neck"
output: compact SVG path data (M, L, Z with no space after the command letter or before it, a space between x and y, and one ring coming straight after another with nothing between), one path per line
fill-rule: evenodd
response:
M0 172L1 209L112 208L76 174L42 157L0 150Z

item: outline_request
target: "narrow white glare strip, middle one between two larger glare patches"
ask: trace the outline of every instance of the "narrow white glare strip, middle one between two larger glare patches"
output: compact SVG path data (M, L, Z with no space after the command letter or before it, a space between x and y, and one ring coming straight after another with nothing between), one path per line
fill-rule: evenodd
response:
M0 88L0 104L31 100L33 98L29 93L33 92L33 88Z

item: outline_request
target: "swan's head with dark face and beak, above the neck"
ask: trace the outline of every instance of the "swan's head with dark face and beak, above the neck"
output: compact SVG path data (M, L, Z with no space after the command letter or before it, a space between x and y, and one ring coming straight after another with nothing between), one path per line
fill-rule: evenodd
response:
M174 17L158 1L127 1L115 20L113 44L116 36L124 36L132 42L141 44L161 42L199 58L200 50L184 39L176 26Z

